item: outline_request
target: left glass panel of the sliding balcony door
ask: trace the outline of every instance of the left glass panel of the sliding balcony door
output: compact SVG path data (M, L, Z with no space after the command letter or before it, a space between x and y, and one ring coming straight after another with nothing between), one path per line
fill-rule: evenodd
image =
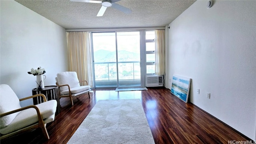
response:
M92 33L95 87L117 87L116 34Z

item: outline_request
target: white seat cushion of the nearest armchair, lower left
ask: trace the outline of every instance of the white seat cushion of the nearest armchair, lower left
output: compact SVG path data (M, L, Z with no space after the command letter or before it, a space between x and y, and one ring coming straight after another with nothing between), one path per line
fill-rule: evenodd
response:
M55 114L57 101L49 100L47 102L37 104L36 106L39 108L41 115L45 120L49 117L52 117L52 115ZM15 130L19 130L20 128L24 128L26 126L34 124L36 122L38 122L38 117L36 110L34 108L22 110L8 126L1 128L1 134L8 134Z

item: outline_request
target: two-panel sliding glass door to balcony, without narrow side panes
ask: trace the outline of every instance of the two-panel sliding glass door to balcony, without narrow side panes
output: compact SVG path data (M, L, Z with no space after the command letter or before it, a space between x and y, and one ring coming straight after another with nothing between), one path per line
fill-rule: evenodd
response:
M140 32L92 32L95 87L140 87Z

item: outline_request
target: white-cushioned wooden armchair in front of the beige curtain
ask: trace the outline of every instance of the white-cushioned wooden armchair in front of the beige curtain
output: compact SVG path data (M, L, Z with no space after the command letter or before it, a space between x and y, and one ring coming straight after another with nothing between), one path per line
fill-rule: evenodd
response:
M57 74L56 86L59 86L59 97L69 97L72 106L73 96L78 96L80 94L88 93L90 98L90 90L91 87L88 86L88 82L86 80L79 81L76 72L60 72ZM80 82L86 82L86 86L80 86Z

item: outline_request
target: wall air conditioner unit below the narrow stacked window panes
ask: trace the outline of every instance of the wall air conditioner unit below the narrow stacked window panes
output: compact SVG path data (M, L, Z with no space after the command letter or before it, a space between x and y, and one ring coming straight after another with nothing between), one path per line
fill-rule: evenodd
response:
M163 76L150 75L146 76L146 87L164 86Z

